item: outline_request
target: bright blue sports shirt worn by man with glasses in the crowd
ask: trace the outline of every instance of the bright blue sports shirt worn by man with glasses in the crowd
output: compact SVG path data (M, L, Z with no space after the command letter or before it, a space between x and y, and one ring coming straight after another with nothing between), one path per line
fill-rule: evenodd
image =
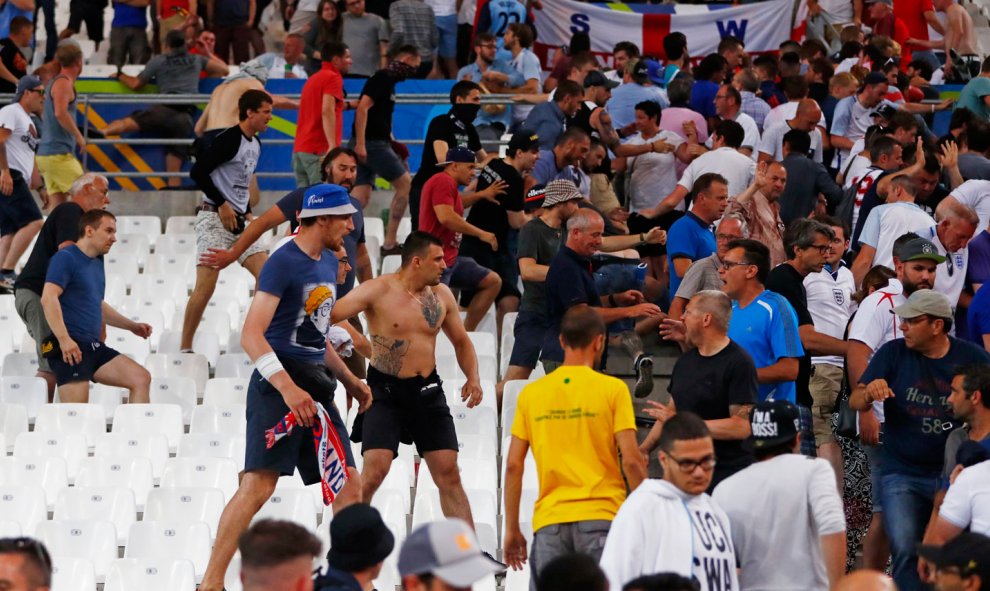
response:
M771 366L785 357L804 356L794 308L784 296L770 290L756 296L745 308L736 300L732 302L729 338L749 353L756 369ZM795 402L794 381L760 384L758 401L771 398Z

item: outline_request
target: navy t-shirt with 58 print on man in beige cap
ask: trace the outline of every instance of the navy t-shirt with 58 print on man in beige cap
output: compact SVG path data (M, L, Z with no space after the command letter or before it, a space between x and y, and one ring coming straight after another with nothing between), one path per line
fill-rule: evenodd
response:
M937 478L942 472L945 442L951 429L948 399L952 377L960 365L990 363L990 355L972 343L949 337L949 352L930 359L895 339L877 349L860 378L869 384L883 379L894 392L883 402L882 474Z

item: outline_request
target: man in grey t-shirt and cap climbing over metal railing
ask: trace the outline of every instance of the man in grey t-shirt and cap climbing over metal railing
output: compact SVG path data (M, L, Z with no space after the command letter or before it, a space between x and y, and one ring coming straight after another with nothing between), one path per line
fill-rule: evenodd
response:
M199 74L206 71L209 76L226 76L227 66L217 60L186 50L186 37L180 30L169 31L165 36L168 53L151 58L148 65L137 76L120 72L111 76L131 90L139 90L147 84L157 84L161 94L197 94ZM143 111L135 111L110 122L100 131L105 136L119 136L125 133L147 132L155 137L168 139L191 139L193 136L193 105L151 105ZM179 172L182 162L189 159L190 146L165 146L165 170ZM169 177L168 185L182 184L179 176Z

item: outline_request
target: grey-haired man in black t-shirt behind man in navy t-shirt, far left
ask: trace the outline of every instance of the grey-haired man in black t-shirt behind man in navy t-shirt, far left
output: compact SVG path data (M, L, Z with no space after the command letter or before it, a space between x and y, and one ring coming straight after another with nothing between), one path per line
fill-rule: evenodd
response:
M48 262L62 248L75 244L79 237L79 219L84 213L102 209L110 203L107 198L110 185L106 177L91 172L76 179L69 193L70 200L53 209L45 220L34 250L14 283L14 307L34 339L38 353L37 375L48 383L49 398L55 393L55 374L41 355L41 341L52 332L41 307Z

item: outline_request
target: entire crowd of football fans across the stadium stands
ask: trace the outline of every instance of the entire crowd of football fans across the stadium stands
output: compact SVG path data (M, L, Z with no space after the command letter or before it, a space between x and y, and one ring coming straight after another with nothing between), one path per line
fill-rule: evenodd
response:
M527 7L506 2L483 10L519 18L487 31L483 13L460 70L453 2L399 0L386 24L364 0L340 13L300 0L284 15L298 31L285 51L251 61L238 46L251 44L261 7L208 2L213 28L200 35L232 45L238 73L198 119L159 105L102 130L198 136L167 161L178 171L195 156L202 192L182 351L221 269L236 261L257 280L241 340L256 368L244 472L200 589L223 587L238 549L245 589L312 584L320 540L291 524L249 528L297 470L335 513L315 585L369 589L395 540L368 504L400 443L416 446L448 518L403 544L406 589L466 587L526 564L539 591L987 588L990 57L971 59L968 14L942 0L922 11L940 46L904 37L903 0L847 3L847 21L832 18L843 2L821 1L824 40L751 59L726 36L698 60L674 32L663 59L616 44L610 70L575 35L544 79ZM189 48L195 2L164 4L175 13L165 51L118 79L185 94L201 75L228 74L224 51ZM74 14L96 30L92 12ZM117 37L140 52L135 35ZM943 63L930 50L946 43L957 51ZM104 342L104 325L143 338L151 327L104 301L116 221L107 179L76 157L82 60L63 41L57 67L15 74L15 101L0 109L0 285L50 393L86 402L97 382L147 402L147 369ZM450 109L429 122L416 168L392 134L395 86L438 72L456 79ZM264 89L279 74L309 75L298 101ZM938 98L936 74L965 80L956 101ZM351 75L367 77L356 99L343 90ZM485 92L513 99L482 105ZM255 216L258 135L275 108L299 110L298 188ZM933 116L949 110L938 137ZM378 277L364 232L376 177L393 190L381 254L401 261ZM283 222L290 236L269 253L260 239ZM515 405L502 425L505 565L478 549L437 370L442 331L465 377L461 403L481 403L469 333L493 307L499 327L516 314L495 392ZM665 393L658 345L677 354ZM510 402L513 380L529 382ZM337 383L360 413L351 429ZM2 564L14 574L0 569L0 583L50 577L31 540L0 541Z

